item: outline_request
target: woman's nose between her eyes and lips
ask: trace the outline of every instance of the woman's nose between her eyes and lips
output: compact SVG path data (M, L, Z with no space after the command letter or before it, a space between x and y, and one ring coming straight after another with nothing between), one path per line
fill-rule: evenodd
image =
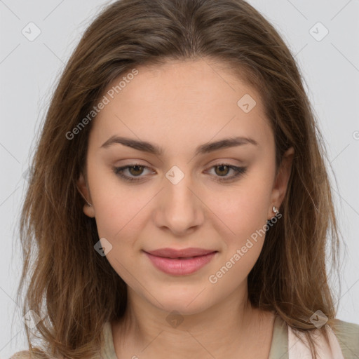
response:
M171 177L173 173L175 175ZM190 175L180 176L181 179L178 175L178 172L169 171L163 180L164 188L158 194L154 220L159 228L175 236L185 236L203 223L204 204L200 194L196 193Z

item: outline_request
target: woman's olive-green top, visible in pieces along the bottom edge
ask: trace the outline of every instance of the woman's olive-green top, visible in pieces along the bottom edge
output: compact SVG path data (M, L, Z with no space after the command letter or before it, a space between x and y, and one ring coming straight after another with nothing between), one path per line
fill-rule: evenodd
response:
M359 359L359 325L344 322L343 320L339 319L336 319L335 322L336 327L333 328L333 330L335 337L337 338L337 342L339 343L343 358ZM291 328L288 327L287 323L285 323L283 319L280 318L280 316L276 316L273 325L273 337L271 341L269 359L291 359L293 357L290 355L290 351L288 350L289 330L291 330ZM104 324L102 333L104 335L104 342L102 344L101 355L99 359L119 359L116 356L114 348L114 339L112 337L110 322ZM18 352L11 357L11 359L29 358L28 351ZM325 359L327 359L327 357Z

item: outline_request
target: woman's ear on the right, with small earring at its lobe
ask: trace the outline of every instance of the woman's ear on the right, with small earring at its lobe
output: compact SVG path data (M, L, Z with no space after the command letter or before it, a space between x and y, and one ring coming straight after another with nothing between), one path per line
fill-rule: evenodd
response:
M290 172L292 172L293 156L293 147L287 149L287 151L285 151L285 154L283 154L283 160L282 163L280 163L280 168L278 170L278 174L276 175L276 179L271 193L271 208L269 208L268 219L271 219L273 217L273 205L275 205L276 208L280 208L285 193L287 192Z

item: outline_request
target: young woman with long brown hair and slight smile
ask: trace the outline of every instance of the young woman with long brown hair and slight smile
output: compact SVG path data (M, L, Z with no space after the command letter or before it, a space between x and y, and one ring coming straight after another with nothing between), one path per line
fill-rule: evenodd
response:
M34 156L13 358L355 358L324 156L290 51L245 1L111 4Z

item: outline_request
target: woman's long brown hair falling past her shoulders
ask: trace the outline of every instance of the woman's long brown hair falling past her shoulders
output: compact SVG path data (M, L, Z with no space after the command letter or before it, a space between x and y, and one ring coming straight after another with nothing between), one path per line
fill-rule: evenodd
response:
M102 325L126 310L126 284L94 250L95 219L83 214L76 188L95 116L76 126L109 83L136 66L198 59L230 66L255 86L273 128L277 168L286 149L295 152L283 219L267 231L248 277L252 305L304 332L313 354L309 334L316 327L309 318L320 310L334 325L325 251L331 249L336 265L339 234L325 147L285 42L243 0L122 0L97 16L70 57L32 160L20 219L18 301L24 294L23 315L32 310L41 316L33 333L25 325L29 350L39 358L95 358ZM324 326L320 330L326 334ZM36 350L32 335L40 342Z

